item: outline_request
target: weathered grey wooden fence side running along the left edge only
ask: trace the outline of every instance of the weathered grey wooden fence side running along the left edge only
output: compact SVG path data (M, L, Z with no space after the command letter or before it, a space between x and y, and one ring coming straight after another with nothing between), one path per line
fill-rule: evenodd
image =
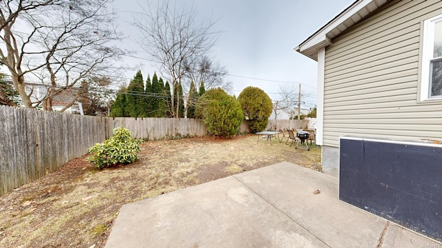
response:
M0 195L104 141L104 119L0 106Z

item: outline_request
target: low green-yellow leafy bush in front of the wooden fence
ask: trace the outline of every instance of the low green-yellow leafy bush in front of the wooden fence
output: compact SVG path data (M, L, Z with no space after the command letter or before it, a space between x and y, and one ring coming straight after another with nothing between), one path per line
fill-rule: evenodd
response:
M104 143L89 148L91 155L87 161L94 163L98 169L117 164L127 165L137 160L142 141L132 138L132 132L124 127L116 127L112 134Z

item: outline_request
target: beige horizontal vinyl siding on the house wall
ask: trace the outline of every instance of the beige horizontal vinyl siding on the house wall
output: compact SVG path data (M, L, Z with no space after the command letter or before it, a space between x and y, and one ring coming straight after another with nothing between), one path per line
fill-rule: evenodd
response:
M442 101L419 103L421 21L442 1L392 1L325 50L323 145L345 135L442 139Z

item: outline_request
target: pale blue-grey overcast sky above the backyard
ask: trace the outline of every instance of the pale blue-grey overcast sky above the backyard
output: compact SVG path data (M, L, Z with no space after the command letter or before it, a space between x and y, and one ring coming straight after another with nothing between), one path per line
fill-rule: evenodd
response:
M119 28L129 39L127 49L140 51L137 56L146 56L137 43L133 12L146 6L149 1L154 6L157 0L115 1L115 8L121 21ZM171 0L174 1L174 0ZM305 41L328 21L336 17L354 0L312 0L312 1L256 1L256 0L178 0L195 7L198 18L218 20L215 30L222 33L211 51L211 56L225 66L233 91L238 96L247 86L260 87L272 100L278 99L279 85L302 83L302 92L310 96L302 99L302 108L314 107L316 103L316 61L293 49ZM155 65L151 62L125 57L124 61L135 67L128 70L128 79L137 70L143 74L153 74ZM253 78L253 79L249 79ZM262 79L262 80L256 80ZM282 83L283 81L290 83Z

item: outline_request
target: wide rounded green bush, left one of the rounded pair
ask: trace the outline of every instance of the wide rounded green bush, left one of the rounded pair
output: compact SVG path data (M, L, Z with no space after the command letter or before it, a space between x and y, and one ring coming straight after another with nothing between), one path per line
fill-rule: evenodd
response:
M197 112L210 134L230 137L238 132L244 116L233 96L217 88L206 91L198 103Z

